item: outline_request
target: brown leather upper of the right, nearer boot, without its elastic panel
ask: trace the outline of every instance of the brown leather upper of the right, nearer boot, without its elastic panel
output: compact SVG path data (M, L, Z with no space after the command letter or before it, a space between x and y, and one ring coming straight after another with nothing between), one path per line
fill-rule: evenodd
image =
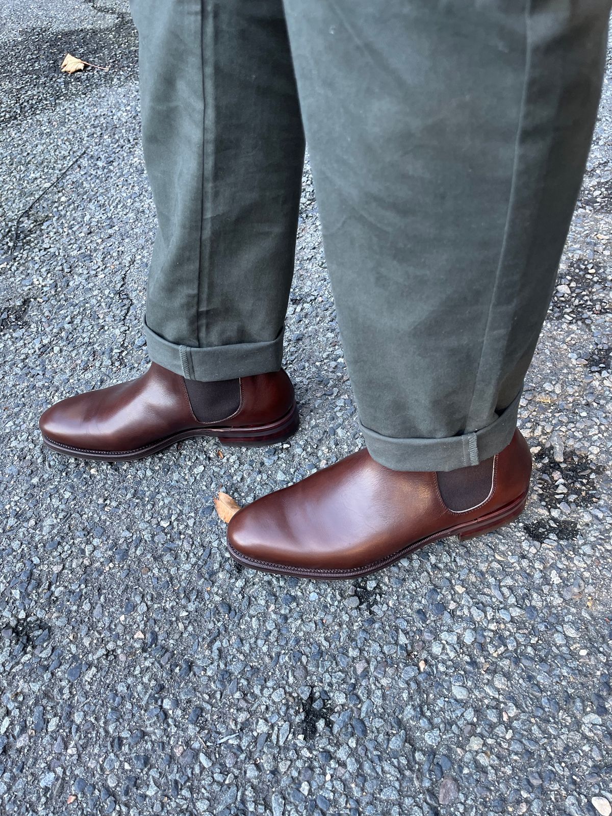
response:
M268 564L352 569L503 508L526 493L530 472L530 450L517 431L495 457L488 497L455 512L441 499L435 472L390 470L363 449L242 508L229 522L228 542Z

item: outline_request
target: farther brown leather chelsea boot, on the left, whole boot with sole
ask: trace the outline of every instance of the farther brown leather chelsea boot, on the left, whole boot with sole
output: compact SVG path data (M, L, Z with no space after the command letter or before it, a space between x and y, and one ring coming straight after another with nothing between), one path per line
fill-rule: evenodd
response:
M81 459L141 459L188 437L272 445L299 426L285 371L220 382L184 379L152 363L127 383L69 397L39 421L45 444Z

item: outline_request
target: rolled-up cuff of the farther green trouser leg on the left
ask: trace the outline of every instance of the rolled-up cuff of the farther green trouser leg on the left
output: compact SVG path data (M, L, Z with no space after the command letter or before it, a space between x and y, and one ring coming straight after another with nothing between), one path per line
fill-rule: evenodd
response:
M279 370L282 365L284 333L282 328L275 339L264 343L194 348L169 343L144 322L147 351L153 362L185 379L199 379L209 383Z

